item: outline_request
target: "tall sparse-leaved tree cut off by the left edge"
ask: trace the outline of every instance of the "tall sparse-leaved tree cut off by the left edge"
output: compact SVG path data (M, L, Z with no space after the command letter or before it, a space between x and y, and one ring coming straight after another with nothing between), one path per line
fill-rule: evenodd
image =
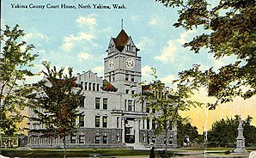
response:
M15 131L21 130L17 123L24 118L21 110L27 106L25 96L32 91L26 77L35 75L28 68L33 67L31 63L38 55L31 53L33 45L21 41L24 35L18 25L1 29L0 134L13 135Z

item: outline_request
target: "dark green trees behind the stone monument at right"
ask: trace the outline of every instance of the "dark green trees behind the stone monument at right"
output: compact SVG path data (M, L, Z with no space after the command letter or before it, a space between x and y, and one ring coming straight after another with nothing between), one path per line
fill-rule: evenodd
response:
M239 116L235 115L235 118L222 118L216 121L208 132L209 143L220 147L235 147L239 119ZM252 117L248 116L243 124L243 135L246 138L246 146L256 143L256 127L250 125L252 119Z

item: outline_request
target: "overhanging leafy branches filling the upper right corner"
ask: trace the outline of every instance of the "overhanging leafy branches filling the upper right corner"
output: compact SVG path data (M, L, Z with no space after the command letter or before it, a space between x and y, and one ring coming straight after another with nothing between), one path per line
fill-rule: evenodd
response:
M216 59L237 58L235 63L222 66L218 71L199 70L199 65L194 65L180 72L180 81L192 82L194 88L205 87L209 96L216 97L216 102L209 104L210 109L236 96L248 99L256 94L256 1L221 0L215 7L206 0L155 1L179 8L180 17L174 27L204 28L206 32L184 45L191 47L192 52L208 50Z

